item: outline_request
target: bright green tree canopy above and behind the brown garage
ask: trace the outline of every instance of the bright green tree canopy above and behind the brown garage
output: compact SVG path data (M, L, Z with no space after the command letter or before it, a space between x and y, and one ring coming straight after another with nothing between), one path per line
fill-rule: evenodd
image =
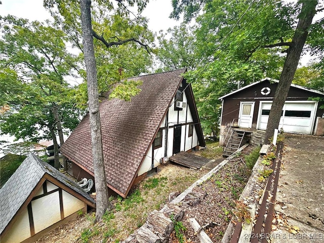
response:
M203 124L211 124L207 117L219 121L220 113L216 115L214 112L220 106L219 97L266 76L279 79L287 52L293 45L291 41L302 2L173 1L171 17L179 19L183 15L185 23L194 19L196 25L193 36L191 31L183 31L184 37L179 36L178 27L169 31L173 34L170 40L161 34L158 58L166 65L165 68L173 68L174 63L181 67L185 65L181 60L195 58L192 65L195 68L188 71L185 77L195 84L198 110L206 111L206 107L213 107L206 116L204 112L200 113ZM317 9L322 11L320 5ZM186 25L184 28L190 27ZM189 37L192 49L185 55L173 42L174 39ZM323 37L323 19L320 19L310 26L306 39L305 50L319 59L307 68L309 74L322 73ZM308 75L308 78L303 81L304 84L320 88L322 75ZM301 78L296 77L295 80L298 82Z

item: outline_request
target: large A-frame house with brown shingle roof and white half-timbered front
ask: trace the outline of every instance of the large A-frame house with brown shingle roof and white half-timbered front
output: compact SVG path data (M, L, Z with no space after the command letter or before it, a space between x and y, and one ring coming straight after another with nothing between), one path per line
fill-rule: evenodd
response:
M131 187L180 151L205 146L186 69L129 78L140 80L139 94L127 102L100 102L107 186L126 197ZM62 145L73 175L93 178L89 115Z

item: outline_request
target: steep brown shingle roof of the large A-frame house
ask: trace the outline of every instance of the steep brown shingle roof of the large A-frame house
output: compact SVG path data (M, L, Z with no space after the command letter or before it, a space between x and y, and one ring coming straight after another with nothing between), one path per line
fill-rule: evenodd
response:
M186 69L130 78L141 80L141 92L130 102L105 99L100 120L108 186L126 196ZM65 156L93 175L89 116L61 147Z

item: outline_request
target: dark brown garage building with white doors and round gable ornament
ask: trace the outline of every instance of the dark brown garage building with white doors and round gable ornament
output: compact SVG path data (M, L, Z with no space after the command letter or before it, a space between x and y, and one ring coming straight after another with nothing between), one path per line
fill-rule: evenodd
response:
M278 80L264 78L220 97L222 101L220 144L226 127L265 130ZM323 102L315 97L324 93L292 84L282 109L278 129L288 133L324 135Z

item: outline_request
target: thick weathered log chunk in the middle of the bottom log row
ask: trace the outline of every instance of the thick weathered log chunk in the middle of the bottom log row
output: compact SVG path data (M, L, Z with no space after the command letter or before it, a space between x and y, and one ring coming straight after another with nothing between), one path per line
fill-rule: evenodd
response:
M170 237L173 231L173 222L170 218L167 218L163 213L154 210L147 217L147 225L149 228L153 228L153 232L160 238Z

